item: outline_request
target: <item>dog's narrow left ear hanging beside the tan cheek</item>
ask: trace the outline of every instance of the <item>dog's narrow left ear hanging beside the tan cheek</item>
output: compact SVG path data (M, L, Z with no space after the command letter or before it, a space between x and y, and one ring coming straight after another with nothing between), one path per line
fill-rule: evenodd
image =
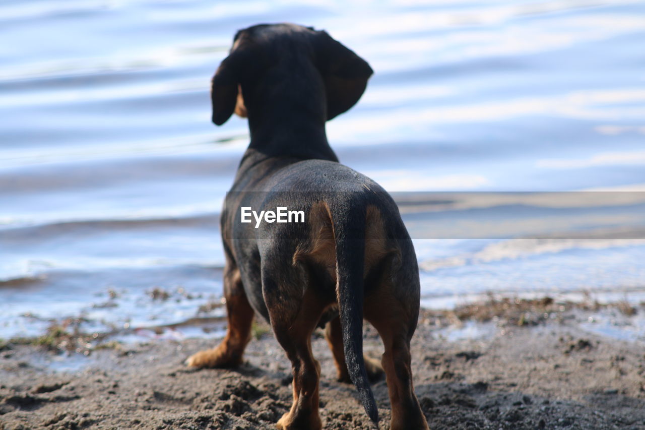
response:
M241 52L233 51L224 58L213 76L210 99L213 103L213 123L217 125L225 123L237 105L243 57Z

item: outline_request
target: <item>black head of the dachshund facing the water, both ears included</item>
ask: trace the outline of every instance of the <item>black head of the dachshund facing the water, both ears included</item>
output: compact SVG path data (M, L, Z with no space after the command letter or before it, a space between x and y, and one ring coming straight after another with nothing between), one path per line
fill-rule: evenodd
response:
M255 25L237 32L213 76L213 123L222 125L233 112L246 117L253 108L249 97L279 96L285 85L299 85L302 97L319 96L326 119L332 119L361 98L372 73L364 59L324 31Z

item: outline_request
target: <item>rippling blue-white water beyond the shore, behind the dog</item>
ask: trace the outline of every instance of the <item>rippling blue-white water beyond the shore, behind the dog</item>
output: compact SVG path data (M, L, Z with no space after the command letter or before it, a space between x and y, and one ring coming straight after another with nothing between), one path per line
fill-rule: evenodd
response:
M326 28L376 72L328 123L341 161L392 191L493 192L402 209L425 305L645 296L642 196L501 194L645 190L642 2L5 0L0 338L221 314L198 309L221 296L217 216L248 132L213 127L209 80L235 30L280 21Z

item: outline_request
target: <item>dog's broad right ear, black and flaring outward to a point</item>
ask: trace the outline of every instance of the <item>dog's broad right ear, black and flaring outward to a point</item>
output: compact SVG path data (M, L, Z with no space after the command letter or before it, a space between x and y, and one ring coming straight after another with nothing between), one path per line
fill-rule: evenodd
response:
M315 50L326 88L329 120L359 101L373 70L367 61L324 31L317 34Z

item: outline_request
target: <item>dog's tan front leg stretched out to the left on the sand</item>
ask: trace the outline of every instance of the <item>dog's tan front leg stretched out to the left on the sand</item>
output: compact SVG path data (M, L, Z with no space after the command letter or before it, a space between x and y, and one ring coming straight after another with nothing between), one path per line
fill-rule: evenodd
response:
M242 363L244 348L251 338L254 312L246 299L239 271L230 262L224 269L224 298L228 319L226 337L217 347L188 358L189 366L235 367Z

